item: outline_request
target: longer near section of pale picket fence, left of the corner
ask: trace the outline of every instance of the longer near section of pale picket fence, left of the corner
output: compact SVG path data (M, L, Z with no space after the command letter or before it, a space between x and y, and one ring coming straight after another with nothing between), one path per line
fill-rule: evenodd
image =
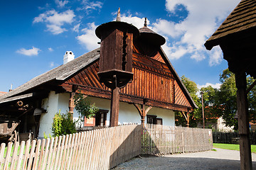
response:
M0 169L111 169L141 154L141 125L75 133L47 140L9 142Z

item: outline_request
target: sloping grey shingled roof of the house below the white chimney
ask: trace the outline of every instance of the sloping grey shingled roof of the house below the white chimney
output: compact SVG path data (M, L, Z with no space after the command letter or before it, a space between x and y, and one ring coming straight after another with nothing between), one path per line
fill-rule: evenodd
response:
M45 84L48 81L67 79L75 72L78 72L80 69L86 67L87 64L97 60L100 57L100 52L97 52L98 50L100 50L100 48L92 50L91 52L87 52L85 55L81 55L80 57L68 62L67 64L60 65L55 69L51 69L50 71L31 79L25 84L18 86L13 91L10 91L8 94L0 96L0 101L4 100L4 98L19 95L25 91L35 88L36 86Z

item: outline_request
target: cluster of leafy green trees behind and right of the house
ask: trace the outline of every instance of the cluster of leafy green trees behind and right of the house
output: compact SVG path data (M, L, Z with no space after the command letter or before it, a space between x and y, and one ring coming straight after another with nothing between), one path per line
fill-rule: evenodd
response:
M201 96L198 97L196 93L196 83L186 78L181 77L181 81L188 89L191 97L195 101L198 109L195 109L191 113L190 126L195 127L198 122L202 121L202 105ZM247 88L255 81L252 77L247 77ZM224 69L220 74L220 82L222 83L220 89L214 89L212 86L203 87L200 91L203 91L203 104L206 121L210 118L219 118L223 116L225 125L229 127L234 126L234 130L238 130L238 120L235 119L235 113L237 112L237 101L235 86L235 74L230 72L229 69ZM248 93L248 108L249 108L249 120L253 123L256 122L256 87L252 88ZM181 112L176 113L176 125L186 125L186 120L183 118Z

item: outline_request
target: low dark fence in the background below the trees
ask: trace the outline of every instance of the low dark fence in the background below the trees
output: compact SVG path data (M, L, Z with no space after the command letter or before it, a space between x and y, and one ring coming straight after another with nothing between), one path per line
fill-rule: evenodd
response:
M238 142L238 132L213 132L213 143L232 144ZM256 145L256 132L250 132L251 145Z

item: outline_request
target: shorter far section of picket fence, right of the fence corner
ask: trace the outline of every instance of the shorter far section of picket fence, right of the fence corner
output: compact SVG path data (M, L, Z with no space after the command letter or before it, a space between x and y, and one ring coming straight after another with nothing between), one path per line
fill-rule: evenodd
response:
M142 154L174 154L213 149L210 129L147 124L142 129Z

